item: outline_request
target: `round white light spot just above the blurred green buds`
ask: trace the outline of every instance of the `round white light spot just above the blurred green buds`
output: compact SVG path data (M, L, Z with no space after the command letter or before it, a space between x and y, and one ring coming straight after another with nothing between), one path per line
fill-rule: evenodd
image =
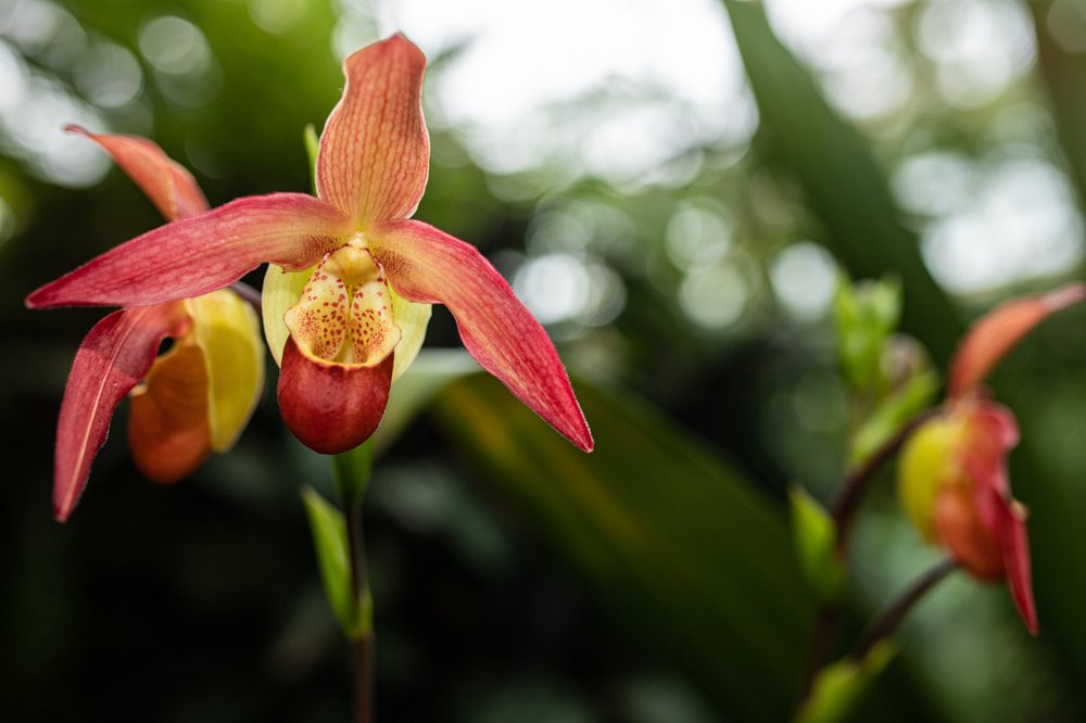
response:
M833 299L836 265L821 246L794 243L772 261L769 279L784 308L796 317L822 317Z

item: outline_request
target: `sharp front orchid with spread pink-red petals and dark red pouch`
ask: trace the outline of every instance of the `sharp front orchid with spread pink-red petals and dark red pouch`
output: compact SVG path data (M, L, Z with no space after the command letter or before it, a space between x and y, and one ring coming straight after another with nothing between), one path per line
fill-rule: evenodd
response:
M593 446L554 345L471 245L411 220L429 136L422 53L402 35L343 63L320 137L317 198L238 199L140 236L37 290L31 307L151 306L232 283L262 263L266 335L283 420L334 454L372 434L392 379L418 351L429 305L452 312L479 364L573 444Z

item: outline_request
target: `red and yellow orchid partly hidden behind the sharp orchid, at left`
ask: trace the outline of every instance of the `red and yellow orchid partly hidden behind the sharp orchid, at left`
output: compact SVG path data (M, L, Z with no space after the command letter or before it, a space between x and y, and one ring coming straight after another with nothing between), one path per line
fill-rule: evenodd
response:
M67 130L98 142L167 220L207 210L192 176L142 138ZM168 352L156 356L166 338ZM64 521L87 484L110 420L131 392L128 440L139 470L175 482L233 446L264 388L260 321L230 290L113 312L76 353L56 427L53 510Z

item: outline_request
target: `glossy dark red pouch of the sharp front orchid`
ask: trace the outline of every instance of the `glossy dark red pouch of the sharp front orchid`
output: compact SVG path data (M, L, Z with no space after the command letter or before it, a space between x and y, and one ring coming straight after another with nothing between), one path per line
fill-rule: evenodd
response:
M368 440L384 416L393 354L372 367L307 356L287 339L279 371L279 411L314 452L334 455Z

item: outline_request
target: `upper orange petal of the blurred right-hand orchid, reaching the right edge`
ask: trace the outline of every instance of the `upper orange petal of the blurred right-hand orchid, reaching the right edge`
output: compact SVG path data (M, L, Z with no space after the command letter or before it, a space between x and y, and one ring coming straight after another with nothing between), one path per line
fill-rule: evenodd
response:
M981 317L965 334L950 364L948 395L962 396L984 380L1003 356L1050 314L1086 299L1086 286L1072 283L1040 296L1012 299Z

